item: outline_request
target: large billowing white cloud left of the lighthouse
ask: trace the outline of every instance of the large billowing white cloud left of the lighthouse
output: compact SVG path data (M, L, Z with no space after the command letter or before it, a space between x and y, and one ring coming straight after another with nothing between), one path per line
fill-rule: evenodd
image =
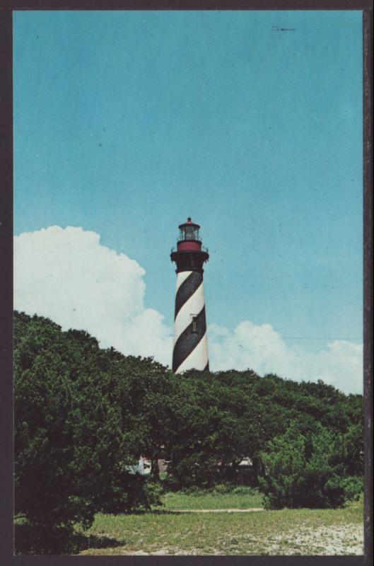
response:
M64 330L87 330L101 347L169 364L172 333L160 313L144 308L145 273L92 231L49 226L15 237L18 311L51 318Z

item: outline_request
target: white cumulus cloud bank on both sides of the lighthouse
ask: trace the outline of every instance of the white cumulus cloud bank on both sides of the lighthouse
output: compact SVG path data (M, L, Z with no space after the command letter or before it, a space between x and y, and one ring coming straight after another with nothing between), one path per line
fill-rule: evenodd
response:
M145 270L100 244L93 231L49 226L15 237L14 302L18 311L51 318L64 330L87 330L101 347L153 356L170 365L173 328L144 307ZM209 325L213 371L254 369L289 379L322 379L346 393L362 391L362 345L329 342L320 352L288 346L270 324L244 320L235 330Z

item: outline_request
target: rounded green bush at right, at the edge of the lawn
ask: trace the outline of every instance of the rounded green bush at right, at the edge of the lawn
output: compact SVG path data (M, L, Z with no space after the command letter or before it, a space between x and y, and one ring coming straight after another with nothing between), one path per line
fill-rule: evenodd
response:
M305 435L293 424L270 441L268 451L261 454L265 473L259 479L265 507L341 507L358 497L361 478L349 475L341 451L348 435L336 435L321 424Z

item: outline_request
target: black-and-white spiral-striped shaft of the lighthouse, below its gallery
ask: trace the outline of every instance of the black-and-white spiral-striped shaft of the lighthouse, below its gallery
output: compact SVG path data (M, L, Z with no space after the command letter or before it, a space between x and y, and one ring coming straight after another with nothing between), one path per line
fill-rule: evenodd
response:
M173 371L186 369L209 369L203 274L197 271L177 273Z

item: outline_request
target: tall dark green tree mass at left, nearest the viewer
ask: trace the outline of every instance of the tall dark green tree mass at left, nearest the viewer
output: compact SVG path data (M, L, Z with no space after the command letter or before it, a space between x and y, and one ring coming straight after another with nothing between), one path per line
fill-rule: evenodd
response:
M16 515L59 546L95 512L159 502L144 477L129 473L149 434L129 391L162 366L100 350L87 333L62 333L44 318L16 313L14 326Z

